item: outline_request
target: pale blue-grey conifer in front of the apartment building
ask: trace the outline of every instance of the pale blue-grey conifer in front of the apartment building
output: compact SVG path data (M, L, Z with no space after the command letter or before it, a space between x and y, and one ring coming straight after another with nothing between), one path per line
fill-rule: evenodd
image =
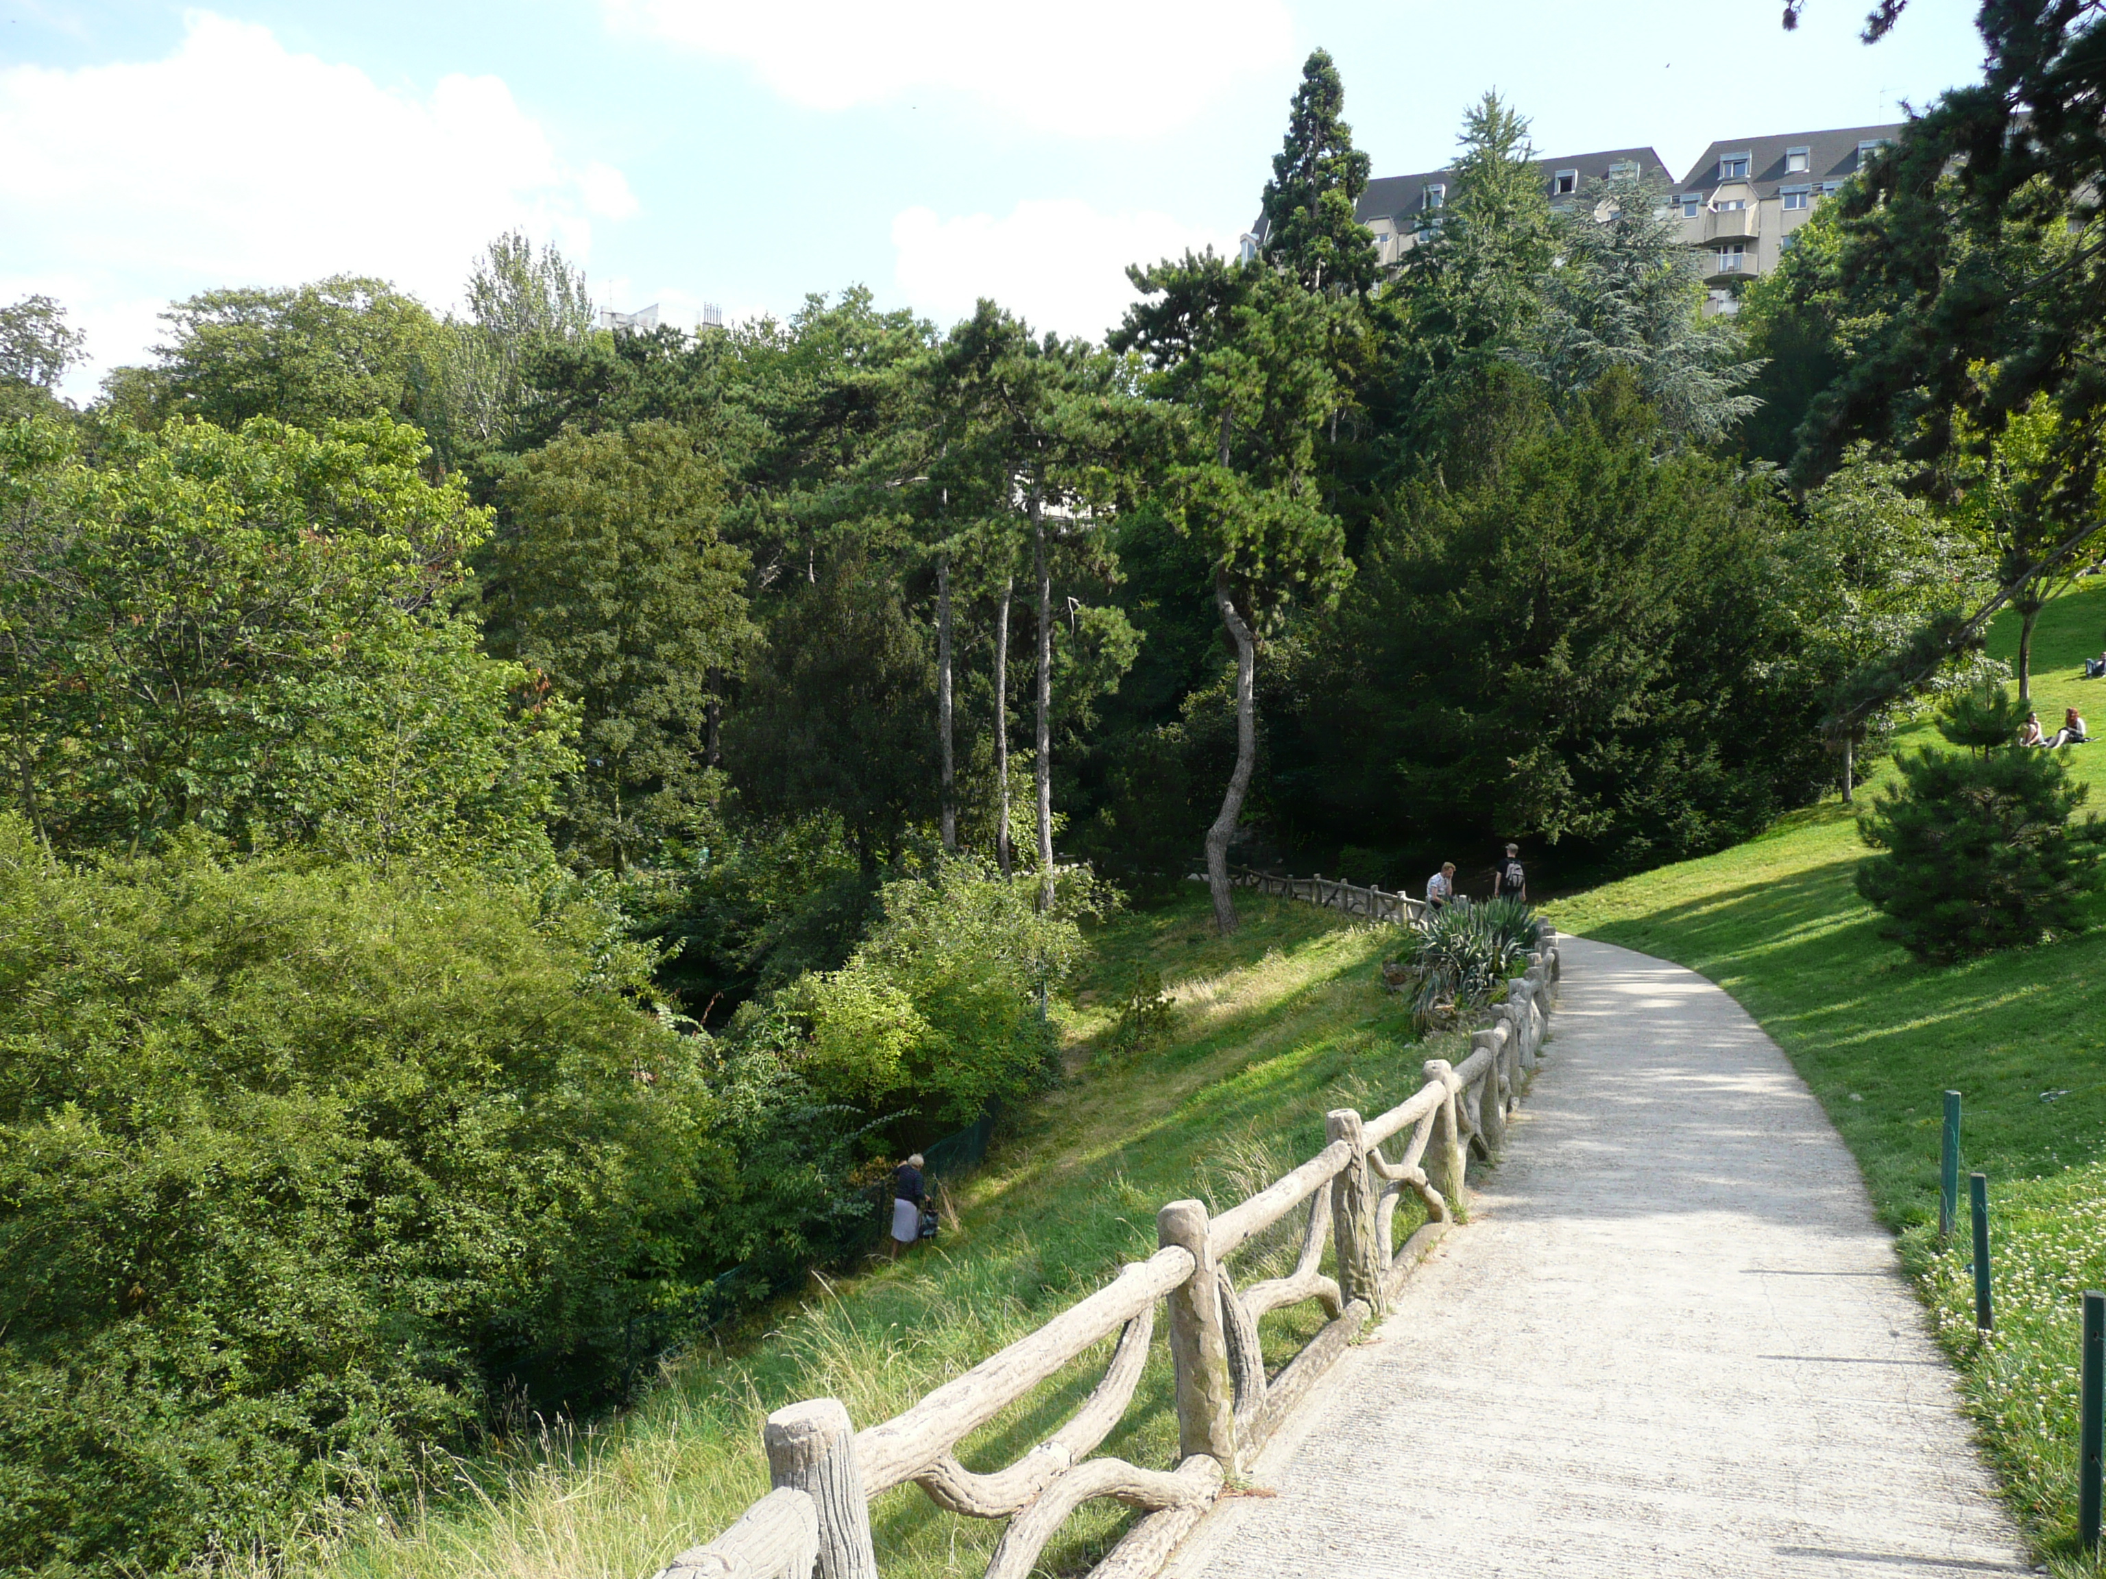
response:
M1544 312L1521 360L1558 400L1630 368L1676 442L1714 444L1761 402L1737 394L1759 371L1742 360L1731 318L1702 318L1697 255L1668 213L1655 177L1590 181L1552 219L1556 263L1544 274Z

